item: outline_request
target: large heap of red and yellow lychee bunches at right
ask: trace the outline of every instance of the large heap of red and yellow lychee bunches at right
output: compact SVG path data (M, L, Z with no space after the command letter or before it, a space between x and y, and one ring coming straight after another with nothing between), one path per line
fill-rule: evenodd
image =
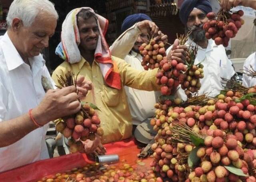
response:
M256 182L254 99L231 90L201 99L195 105L177 99L155 105L154 171L173 182ZM198 160L191 164L191 158Z

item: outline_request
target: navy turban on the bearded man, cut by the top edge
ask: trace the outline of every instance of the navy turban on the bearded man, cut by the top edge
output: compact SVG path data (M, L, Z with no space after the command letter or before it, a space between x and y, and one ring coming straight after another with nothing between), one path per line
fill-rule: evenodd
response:
M187 24L188 16L194 8L201 10L205 14L212 12L212 6L209 0L184 0L179 13L180 20L184 25Z

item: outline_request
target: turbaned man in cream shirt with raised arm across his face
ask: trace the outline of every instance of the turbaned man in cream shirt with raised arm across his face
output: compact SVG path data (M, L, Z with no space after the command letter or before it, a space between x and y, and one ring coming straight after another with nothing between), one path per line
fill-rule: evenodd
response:
M149 16L146 14L132 14L125 18L121 27L122 35L110 47L112 55L124 59L132 68L144 70L141 65L142 56L139 53L139 47L142 43L148 43L149 41L148 32L142 29L147 26L155 27L154 29L151 28L155 32L155 39L167 41L167 35L158 31L158 27ZM154 115L154 104L157 102L154 91L145 92L129 87L125 87L125 89L134 125L138 125L144 119Z

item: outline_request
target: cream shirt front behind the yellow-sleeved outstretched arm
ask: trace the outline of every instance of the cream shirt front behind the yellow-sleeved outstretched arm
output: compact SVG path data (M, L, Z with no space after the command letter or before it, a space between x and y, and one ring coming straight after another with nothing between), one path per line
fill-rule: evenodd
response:
M142 56L134 51L131 51L124 58L126 63L132 68L144 71L141 65ZM154 91L137 90L125 86L126 95L128 98L130 112L132 114L133 124L138 125L144 119L154 116L154 104L157 102L157 97Z

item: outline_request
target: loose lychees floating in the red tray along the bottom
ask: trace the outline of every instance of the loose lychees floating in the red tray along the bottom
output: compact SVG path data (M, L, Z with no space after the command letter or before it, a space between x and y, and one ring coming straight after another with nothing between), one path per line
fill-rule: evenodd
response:
M161 178L156 177L153 170L141 172L136 165L130 166L125 161L121 165L104 165L104 167L106 169L100 170L100 164L88 164L45 176L38 182L163 182Z

